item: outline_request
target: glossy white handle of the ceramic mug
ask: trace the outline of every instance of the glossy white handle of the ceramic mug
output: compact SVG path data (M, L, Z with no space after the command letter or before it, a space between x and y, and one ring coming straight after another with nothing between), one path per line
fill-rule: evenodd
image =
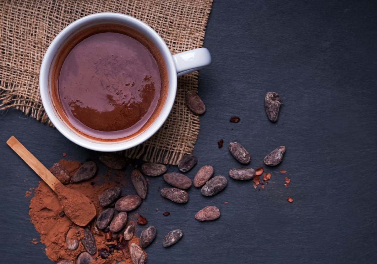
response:
M206 48L198 48L173 55L177 76L200 70L211 64L211 54Z

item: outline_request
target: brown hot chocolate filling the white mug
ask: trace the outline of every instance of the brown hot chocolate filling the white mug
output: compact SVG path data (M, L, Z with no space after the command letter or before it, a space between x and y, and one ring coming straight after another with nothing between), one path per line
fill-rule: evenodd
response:
M53 68L55 108L89 138L142 132L164 105L166 66L151 41L129 27L90 27L64 46Z

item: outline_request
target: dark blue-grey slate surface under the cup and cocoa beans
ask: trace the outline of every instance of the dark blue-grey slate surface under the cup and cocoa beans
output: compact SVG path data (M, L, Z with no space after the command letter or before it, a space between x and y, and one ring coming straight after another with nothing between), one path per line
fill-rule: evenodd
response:
M199 76L207 111L193 152L198 164L186 175L193 179L210 164L228 185L214 197L192 186L189 202L178 205L160 196L158 187L168 187L162 177L151 178L147 199L135 211L157 228L147 263L375 262L376 7L372 0L213 3L204 45L213 63ZM265 114L268 91L284 102L277 123ZM234 115L239 123L229 122ZM46 167L63 152L81 161L99 153L14 109L0 113L0 125L0 262L51 263L44 245L31 243L39 234L25 193L39 178L5 142L14 135ZM264 165L274 148L287 147L280 165L264 166L272 174L264 190L228 176L230 168L243 167L227 150L232 141L250 152L252 168ZM195 220L207 205L218 206L221 217ZM182 240L162 247L177 228Z

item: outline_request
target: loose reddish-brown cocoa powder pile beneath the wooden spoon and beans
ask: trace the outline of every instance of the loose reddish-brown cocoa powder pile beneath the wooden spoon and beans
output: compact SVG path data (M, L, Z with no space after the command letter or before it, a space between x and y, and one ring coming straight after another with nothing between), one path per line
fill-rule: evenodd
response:
M59 163L69 171L71 176L73 176L82 165L79 161L67 161L65 159L62 159ZM78 190L87 196L95 205L98 216L98 214L103 211L102 206L98 202L98 197L100 197L101 193L105 190L116 187L116 185L115 182L109 181L104 181L101 184L93 184L92 181L84 181L80 183L70 183L65 186ZM69 250L67 248L66 236L71 228L76 228L77 226L64 214L57 195L43 181L40 181L38 187L35 188L34 197L30 201L29 208L31 222L40 233L40 242L45 245L45 253L48 258L55 262L70 259L73 263L76 263L78 255L86 250L82 243L79 243L76 250ZM132 220L129 220L129 222L131 221ZM129 251L124 249L115 249L106 259L98 256L98 249L101 251L101 249L106 248L105 243L107 244L109 240L107 240L101 230L95 229L94 220L90 222L87 227L94 235L97 247L97 252L92 255L92 264L113 264L117 261L123 261L122 263L126 264L133 263ZM80 240L83 238L84 232L79 233L80 230L82 230L82 228L78 227L78 232L73 234L74 237L70 237L70 239L78 238L78 240ZM121 237L119 237L118 240L119 239L121 239ZM116 240L114 240L113 243L116 243ZM132 243L139 244L139 238L133 236L129 241L130 245Z

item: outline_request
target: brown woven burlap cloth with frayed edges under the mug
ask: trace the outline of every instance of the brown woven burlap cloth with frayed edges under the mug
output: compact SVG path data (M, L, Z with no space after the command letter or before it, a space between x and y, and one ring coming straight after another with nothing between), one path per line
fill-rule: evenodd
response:
M9 107L49 122L39 95L39 69L52 39L85 15L117 12L151 26L173 54L201 47L212 0L0 0L0 111ZM178 78L173 110L164 126L145 143L127 150L131 158L178 164L192 153L199 118L185 106L187 91L197 91L198 73Z

